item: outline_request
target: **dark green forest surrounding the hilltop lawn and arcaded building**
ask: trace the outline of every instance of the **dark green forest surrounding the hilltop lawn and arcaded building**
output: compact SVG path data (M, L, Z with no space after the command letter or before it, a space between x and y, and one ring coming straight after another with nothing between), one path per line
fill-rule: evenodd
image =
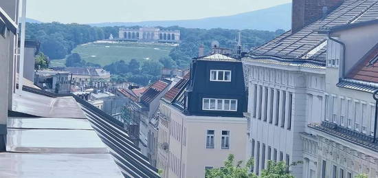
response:
M80 25L77 23L27 23L26 27L27 38L40 41L41 52L49 56L51 60L72 56L70 55L72 50L77 50L76 47L78 45L109 38L110 34L113 34L116 38L119 29L119 27L92 27L90 25ZM128 62L133 59L131 56L117 56L120 58L119 60L113 60L115 62L101 67L104 67L109 70L111 74L115 75L115 80L129 80L140 85L147 85L148 82L153 82L153 80L159 78L161 67L188 69L192 58L198 56L200 45L205 47L205 53L210 52L212 41L219 41L221 47L231 48L236 45L238 32L241 32L243 47L248 51L251 47L261 45L284 32L284 30L270 32L262 30L227 30L221 28L205 30L178 26L160 28L162 30L180 30L181 32L180 45L171 48L167 56L153 60L141 60L137 58L137 60L133 60L132 63ZM86 47L91 46L96 47L96 45L86 45ZM107 46L107 49L110 50L113 48ZM87 50L91 51L89 49ZM98 49L93 50L100 52ZM105 56L107 54L109 55L109 50L104 52ZM110 53L114 54L114 52ZM80 58L81 54L75 55L77 58ZM93 56L93 54L82 55L85 56L81 56L77 63L69 63L69 65L77 65L78 67L104 65L104 61L99 62L88 58L88 55ZM97 54L97 56L99 55ZM128 60L125 61L125 58ZM88 61L85 61L86 59ZM135 66L137 66L138 69L135 69Z

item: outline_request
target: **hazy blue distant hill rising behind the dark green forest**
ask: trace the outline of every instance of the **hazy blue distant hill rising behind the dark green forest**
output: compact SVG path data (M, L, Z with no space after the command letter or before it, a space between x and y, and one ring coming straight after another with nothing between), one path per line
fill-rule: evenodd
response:
M272 8L255 10L232 16L218 16L205 19L179 21L142 21L142 22L114 22L92 23L89 25L104 26L174 26L187 28L227 28L227 29L254 29L254 30L289 30L291 27L291 3L277 5Z

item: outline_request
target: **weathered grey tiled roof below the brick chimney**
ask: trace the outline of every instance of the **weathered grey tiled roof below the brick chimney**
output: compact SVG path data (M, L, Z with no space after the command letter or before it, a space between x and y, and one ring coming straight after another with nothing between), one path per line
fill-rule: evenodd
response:
M324 61L326 34L318 34L316 31L322 27L370 21L378 17L377 9L378 0L345 0L326 18L315 21L296 33L286 32L253 49L249 55L252 57L275 56L283 59Z

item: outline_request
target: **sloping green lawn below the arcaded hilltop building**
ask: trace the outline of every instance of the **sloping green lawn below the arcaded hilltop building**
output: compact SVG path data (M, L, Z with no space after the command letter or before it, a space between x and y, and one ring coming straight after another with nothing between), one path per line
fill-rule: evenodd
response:
M168 56L173 46L145 43L88 43L79 45L72 52L80 54L87 62L109 65L118 60L158 60Z

